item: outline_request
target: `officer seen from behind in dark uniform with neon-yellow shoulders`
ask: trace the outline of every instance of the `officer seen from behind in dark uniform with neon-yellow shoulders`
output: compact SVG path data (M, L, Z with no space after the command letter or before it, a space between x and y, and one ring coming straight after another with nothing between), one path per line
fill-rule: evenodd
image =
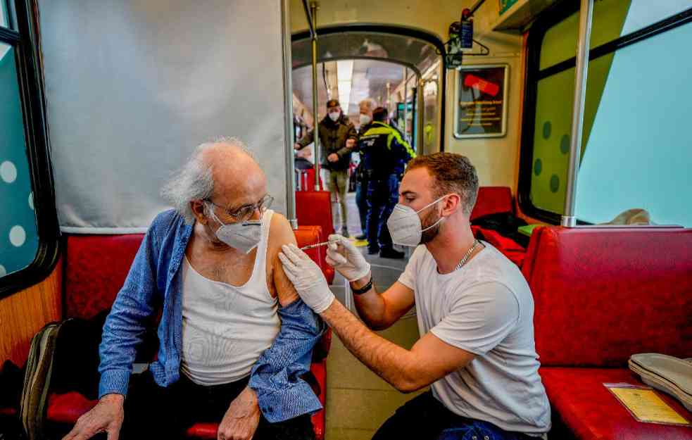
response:
M363 122L363 121L362 121ZM401 132L389 125L384 107L372 111L372 122L361 127L358 148L367 176L367 253L382 258L403 258L395 251L386 221L398 202L399 177L415 152Z

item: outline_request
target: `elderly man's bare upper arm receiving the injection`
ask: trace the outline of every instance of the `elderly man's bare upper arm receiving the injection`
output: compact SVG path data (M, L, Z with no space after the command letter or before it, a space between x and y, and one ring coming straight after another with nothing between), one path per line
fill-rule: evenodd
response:
M299 298L293 283L284 273L284 268L279 261L279 252L284 244L296 244L296 235L293 233L289 220L279 213L272 215L269 227L269 241L267 246L267 284L269 291L275 298L278 296L282 307Z

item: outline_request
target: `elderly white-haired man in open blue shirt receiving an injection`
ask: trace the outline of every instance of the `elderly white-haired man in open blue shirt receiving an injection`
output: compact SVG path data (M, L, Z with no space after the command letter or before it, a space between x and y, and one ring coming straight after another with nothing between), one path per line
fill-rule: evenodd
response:
M221 440L312 439L321 406L301 375L323 323L277 260L296 241L264 173L237 139L202 144L163 195L175 209L153 220L103 327L99 403L64 439L117 440L121 425L126 440L179 438L197 421L220 422ZM161 303L158 358L128 393Z

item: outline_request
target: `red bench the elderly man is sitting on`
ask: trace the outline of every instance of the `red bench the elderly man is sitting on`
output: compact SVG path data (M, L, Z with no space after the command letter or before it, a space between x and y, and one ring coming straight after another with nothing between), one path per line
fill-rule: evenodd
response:
M315 244L322 239L319 226L302 226L294 231L298 246ZM111 308L144 234L127 235L70 235L65 247L65 318L93 318L102 310ZM308 251L310 258L325 268L317 249ZM326 356L332 333L328 330L313 350L310 372L317 384L313 389L325 406ZM77 418L96 405L77 392L51 394L47 420L51 425L73 425ZM325 438L325 410L312 416L315 438ZM218 424L196 423L187 431L194 439L216 439Z

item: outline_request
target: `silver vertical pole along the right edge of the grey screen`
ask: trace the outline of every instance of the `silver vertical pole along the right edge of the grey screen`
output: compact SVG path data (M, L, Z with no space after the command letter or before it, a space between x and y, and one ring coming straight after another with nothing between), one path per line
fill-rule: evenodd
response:
M286 156L286 217L293 229L298 229L296 218L296 168L293 156L293 80L291 66L291 17L289 1L281 1L281 37L284 62L284 153ZM298 182L299 183L299 182Z

